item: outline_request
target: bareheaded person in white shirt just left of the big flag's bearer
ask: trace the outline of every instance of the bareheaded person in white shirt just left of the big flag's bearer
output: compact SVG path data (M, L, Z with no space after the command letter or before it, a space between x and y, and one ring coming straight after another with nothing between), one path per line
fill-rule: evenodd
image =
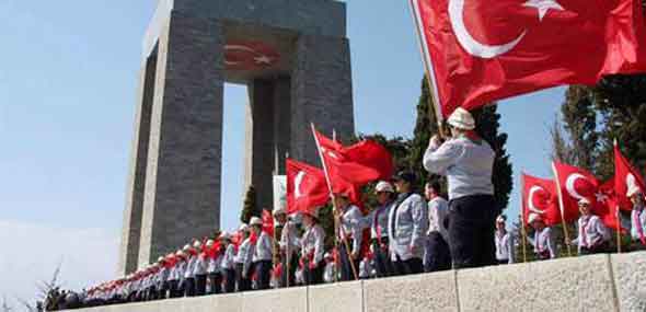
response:
M424 195L428 200L428 239L424 254L424 271L451 269L447 229L449 203L440 196L439 182L427 183L424 188Z

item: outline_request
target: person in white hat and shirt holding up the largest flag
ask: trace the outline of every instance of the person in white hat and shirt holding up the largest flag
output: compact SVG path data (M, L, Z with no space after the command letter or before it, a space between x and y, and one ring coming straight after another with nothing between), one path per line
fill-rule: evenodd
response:
M458 107L447 120L452 138L430 139L424 167L449 182L449 246L453 268L496 263L494 221L499 213L492 175L496 153L475 131L471 113Z

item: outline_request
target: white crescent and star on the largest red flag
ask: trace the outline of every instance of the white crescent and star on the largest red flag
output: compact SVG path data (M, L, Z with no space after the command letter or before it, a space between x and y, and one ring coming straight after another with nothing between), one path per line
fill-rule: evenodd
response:
M527 34L523 30L514 41L501 45L487 45L476 41L466 28L464 24L464 1L466 0L449 0L449 20L458 42L470 55L481 58L495 58L511 50ZM543 21L549 10L563 11L563 7L556 0L528 0L522 4L523 7L535 8L539 13L539 21Z

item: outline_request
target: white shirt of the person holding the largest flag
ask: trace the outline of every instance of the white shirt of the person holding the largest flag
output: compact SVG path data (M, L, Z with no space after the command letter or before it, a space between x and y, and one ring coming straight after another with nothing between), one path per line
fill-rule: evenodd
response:
M461 136L441 146L429 145L424 154L424 167L446 175L449 198L470 195L493 195L492 172L496 153L485 141L472 141Z

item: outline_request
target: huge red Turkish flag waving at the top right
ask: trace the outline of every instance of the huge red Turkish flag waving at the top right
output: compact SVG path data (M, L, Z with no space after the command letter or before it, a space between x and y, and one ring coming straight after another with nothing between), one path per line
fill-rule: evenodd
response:
M636 0L409 0L442 115L646 70Z

